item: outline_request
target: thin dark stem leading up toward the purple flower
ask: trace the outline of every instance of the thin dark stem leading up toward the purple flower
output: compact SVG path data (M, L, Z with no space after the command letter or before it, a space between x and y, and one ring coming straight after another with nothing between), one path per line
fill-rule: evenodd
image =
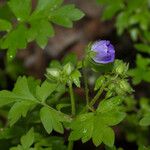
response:
M84 86L85 86L85 99L86 99L86 105L89 105L89 88L88 88L88 83L87 83L87 73L86 73L86 68L84 65L84 60L82 61L83 65L83 78L84 78Z

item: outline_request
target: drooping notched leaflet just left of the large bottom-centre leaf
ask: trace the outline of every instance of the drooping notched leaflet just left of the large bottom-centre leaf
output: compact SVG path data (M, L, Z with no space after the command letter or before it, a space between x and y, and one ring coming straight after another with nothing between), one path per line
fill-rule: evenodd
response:
M63 120L58 111L54 111L48 107L42 107L40 110L40 118L47 133L50 134L53 129L59 133L64 132L61 123Z

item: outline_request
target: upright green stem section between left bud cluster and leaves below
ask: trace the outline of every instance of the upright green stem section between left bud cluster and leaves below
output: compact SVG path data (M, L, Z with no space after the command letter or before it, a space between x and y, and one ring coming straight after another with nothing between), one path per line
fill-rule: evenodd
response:
M71 114L74 116L76 114L76 108L75 108L75 100L74 100L74 94L73 94L73 88L71 82L69 82L69 93L71 99Z

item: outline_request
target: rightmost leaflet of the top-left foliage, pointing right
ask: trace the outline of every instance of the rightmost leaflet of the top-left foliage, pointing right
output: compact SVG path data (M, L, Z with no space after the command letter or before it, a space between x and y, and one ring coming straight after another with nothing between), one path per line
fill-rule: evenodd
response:
M74 5L65 5L50 14L50 21L64 27L72 27L72 21L81 19L83 12L75 8Z

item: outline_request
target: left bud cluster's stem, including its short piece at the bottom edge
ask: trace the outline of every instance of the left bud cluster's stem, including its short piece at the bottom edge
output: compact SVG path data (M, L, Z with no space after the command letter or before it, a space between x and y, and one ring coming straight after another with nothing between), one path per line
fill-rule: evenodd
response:
M76 114L76 108L75 108L75 99L74 99L74 94L73 94L73 88L72 88L72 83L69 82L69 93L70 93L70 98L71 98L71 114L75 116ZM73 141L69 141L68 143L68 150L73 150Z

